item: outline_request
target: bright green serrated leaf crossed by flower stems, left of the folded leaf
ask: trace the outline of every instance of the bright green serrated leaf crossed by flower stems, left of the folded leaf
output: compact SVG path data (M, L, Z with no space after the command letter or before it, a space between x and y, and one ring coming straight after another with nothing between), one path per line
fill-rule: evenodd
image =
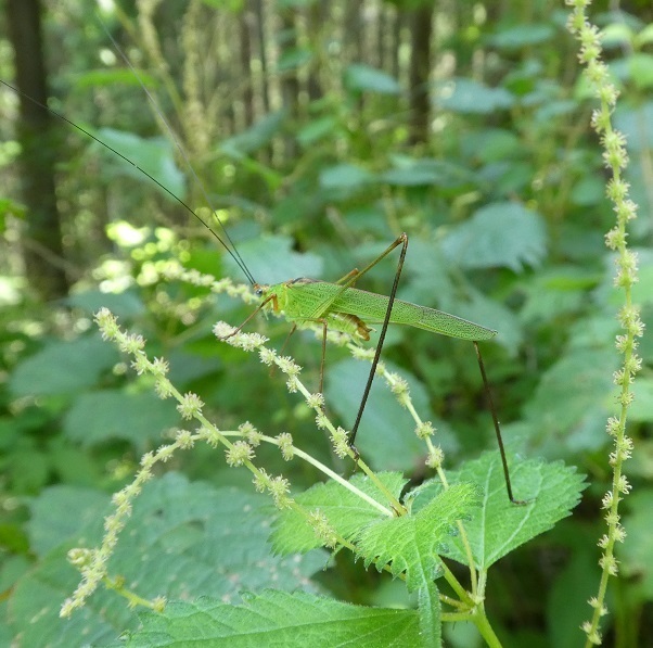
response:
M377 473L377 477L398 499L408 480L399 472L383 472ZM355 474L350 482L387 506L385 495L367 475ZM315 484L308 491L296 495L295 500L309 510L319 509L326 516L331 526L347 539L354 537L370 522L384 519L379 509L333 481ZM312 528L306 523L305 517L293 509L283 510L274 521L273 529L270 542L279 554L304 552L322 546Z

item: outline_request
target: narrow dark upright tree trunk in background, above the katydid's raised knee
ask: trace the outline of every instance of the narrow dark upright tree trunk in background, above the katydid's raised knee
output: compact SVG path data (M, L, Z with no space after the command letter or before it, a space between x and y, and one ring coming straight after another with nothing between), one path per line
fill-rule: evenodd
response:
M431 105L428 75L431 74L431 36L433 5L415 9L411 16L410 59L410 143L428 141Z

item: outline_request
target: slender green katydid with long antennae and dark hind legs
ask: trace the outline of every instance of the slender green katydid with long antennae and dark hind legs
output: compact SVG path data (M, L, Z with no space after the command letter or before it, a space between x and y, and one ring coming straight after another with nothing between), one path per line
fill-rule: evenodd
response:
M110 38L113 41L111 35ZM141 84L142 88L144 89L148 99L152 102L154 110L156 111L158 117L165 125L168 135L175 142L177 149L180 151L191 175L193 176L194 180L199 183L203 192L204 200L212 209L212 213L216 215L216 209L212 206L212 201L208 196L208 193L204 189L204 186L201 182L197 174L194 171L193 166L180 141L175 136L171 126L167 123L165 116L163 115L154 98L145 87L144 82L141 80L137 71L127 60L127 58L115 43L115 41L113 42L118 53L120 53L126 64L131 68L137 79ZM21 90L14 88L13 86L7 84L1 79L0 82L2 82L2 85L17 93L22 98L22 100L30 101L41 106L43 110L49 111L51 114L55 115L60 119L63 119L73 128L82 132L85 136L93 139L99 144L110 150L112 153L114 153L125 162L129 163L133 167L136 167L152 182L156 183L161 189L167 192L178 204L180 204L185 211L188 211L195 218L197 218L204 225L204 227L208 229L208 231L234 259L236 265L243 271L247 281L252 284L254 291L261 297L259 306L231 334L235 334L235 332L240 331L259 310L266 307L272 308L274 312L283 314L283 316L290 322L292 322L293 328L291 330L291 333L296 329L297 325L300 323L315 322L317 325L320 325L322 327L322 354L320 363L319 384L320 392L322 392L323 389L324 358L326 351L328 330L331 329L343 333L348 333L355 340L366 342L370 339L370 332L372 330L368 325L381 325L380 336L374 358L372 360L370 373L368 376L368 380L362 392L358 414L356 416L356 421L349 435L349 444L351 445L356 454L357 450L354 446L354 442L356 440L358 428L366 408L372 382L374 380L376 366L379 364L381 351L383 348L383 343L385 340L385 334L389 323L410 326L440 335L448 335L451 338L471 341L474 345L476 359L483 378L483 384L492 417L495 433L499 445L503 474L505 479L508 497L513 504L524 504L522 500L515 499L513 497L510 471L508 468L508 460L505 457L505 450L501 439L499 421L492 403L491 393L489 390L489 384L485 372L483 358L481 355L481 350L478 348L479 341L489 340L494 338L497 334L497 331L468 321L465 319L461 319L448 313L435 310L425 306L419 306L396 298L399 279L408 249L408 236L406 233L401 233L390 245L388 245L388 247L382 254L380 254L375 259L368 264L362 270L354 269L335 282L320 281L302 277L298 279L293 279L291 281L285 281L276 284L257 283L252 272L248 270L245 262L239 254L235 245L233 244L233 241L229 237L227 229L217 216L215 216L216 220L218 220L219 227L221 228L225 238L218 236L218 233L208 225L208 223L206 223L206 220L204 220L199 214L196 214L182 199L177 196L172 191L166 188L156 178L154 178L148 171L142 169L139 165L129 160L127 156L123 155L119 151L116 151L114 148L101 141L98 137L95 137L85 128L80 127L79 125L75 124L61 113L49 109L48 106L41 104L40 102L36 101L35 99L30 98L29 96L25 94ZM399 261L397 264L397 270L395 272L395 278L392 289L389 291L389 295L381 295L360 290L358 288L354 288L354 284L363 275L366 275L377 263L384 259L396 247L400 247Z

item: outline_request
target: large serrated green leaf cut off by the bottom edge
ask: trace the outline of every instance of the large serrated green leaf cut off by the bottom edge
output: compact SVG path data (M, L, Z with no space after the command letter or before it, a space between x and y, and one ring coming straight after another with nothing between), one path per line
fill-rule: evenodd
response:
M119 646L433 646L420 636L414 610L366 608L302 592L242 596L240 606L215 599L170 602L162 614L141 614L142 627Z

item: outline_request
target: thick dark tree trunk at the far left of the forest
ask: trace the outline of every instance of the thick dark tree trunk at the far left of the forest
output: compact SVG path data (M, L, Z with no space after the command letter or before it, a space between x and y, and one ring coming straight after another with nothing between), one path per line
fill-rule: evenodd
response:
M41 8L38 0L9 0L10 38L15 52L16 84L22 92L42 104L48 102L46 65L41 39ZM21 97L23 201L27 205L27 229L23 257L27 279L43 300L68 292L63 270L64 256L60 215L56 209L54 163L55 129L43 109Z

